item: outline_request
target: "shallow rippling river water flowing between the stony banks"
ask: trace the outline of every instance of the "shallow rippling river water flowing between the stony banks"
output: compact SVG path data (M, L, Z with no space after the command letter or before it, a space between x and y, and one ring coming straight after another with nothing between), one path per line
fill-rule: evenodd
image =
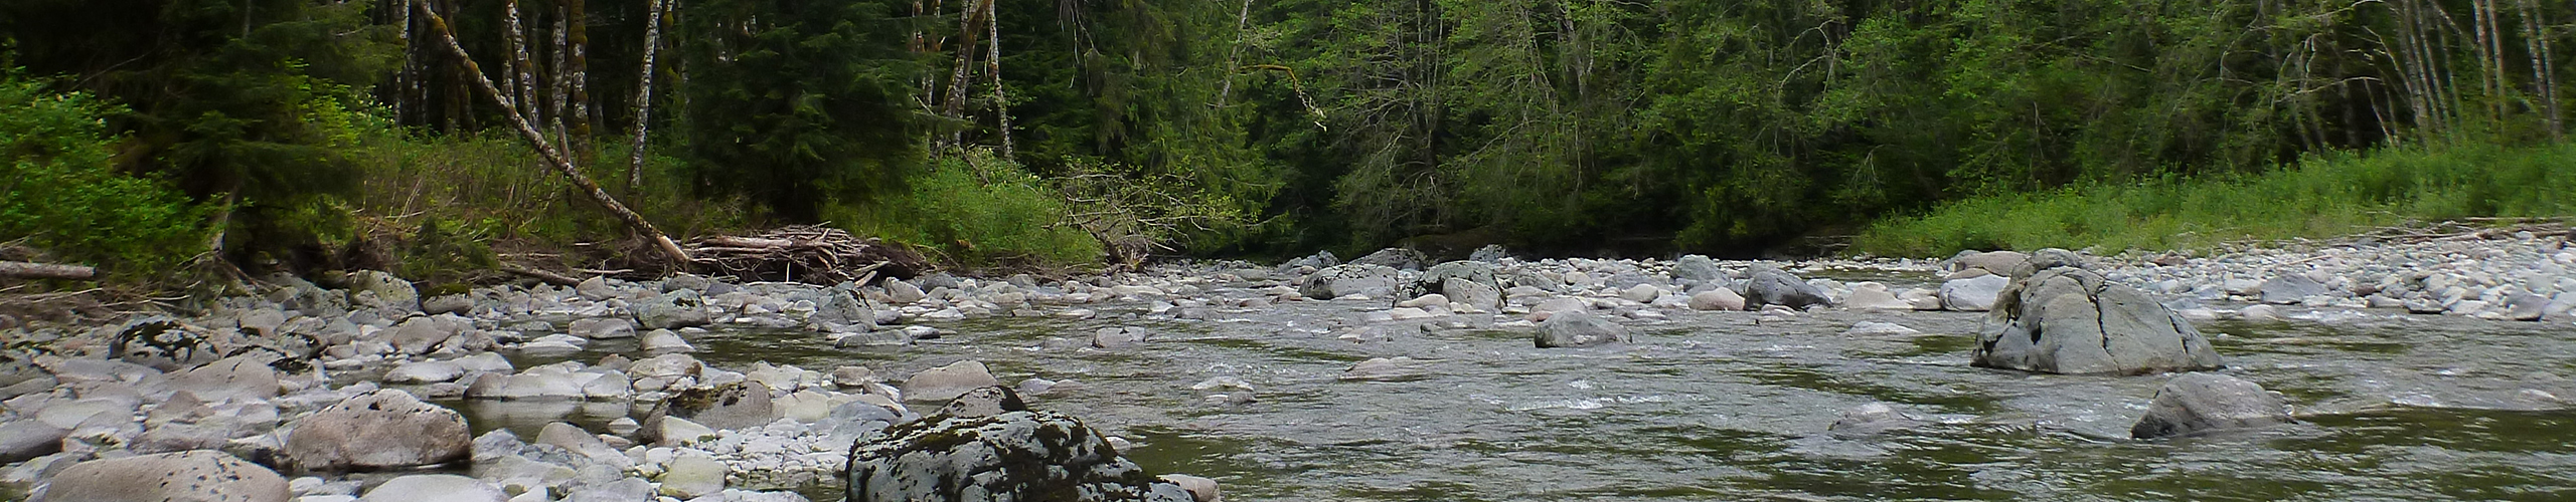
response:
M1888 281L1888 278L1883 278ZM1893 278L1891 283L1909 283ZM1206 296L1260 296L1257 286ZM2300 422L2128 440L2164 376L1968 368L1984 314L1752 311L1631 324L1636 342L1540 350L1492 319L1347 342L1383 301L1291 301L1213 319L969 319L912 348L842 350L811 332L719 330L701 360L909 376L984 360L1005 381L1082 381L1033 399L1131 438L1154 471L1218 479L1226 499L2576 499L2576 330L2535 322L2293 311L2200 322L2231 376L2282 391ZM2316 319L2321 317L2321 319ZM1507 319L1507 317L1504 317ZM1844 335L1896 322L1922 335ZM1419 324L1419 322L1414 322ZM1476 327L1481 324L1481 330ZM1100 327L1151 342L1074 350ZM623 345L631 348L631 345ZM574 355L595 360L621 345ZM1365 358L1430 360L1419 378L1342 381ZM528 363L544 360L523 360ZM1249 404L1193 384L1234 376ZM2545 396L2555 394L2555 396ZM1837 438L1888 402L1924 427ZM533 435L559 404L464 404L477 427ZM935 404L914 404L914 409ZM623 409L574 412L603 422ZM587 414L587 417L582 417ZM598 427L592 427L598 430ZM832 487L806 487L829 494ZM837 497L819 497L837 499Z

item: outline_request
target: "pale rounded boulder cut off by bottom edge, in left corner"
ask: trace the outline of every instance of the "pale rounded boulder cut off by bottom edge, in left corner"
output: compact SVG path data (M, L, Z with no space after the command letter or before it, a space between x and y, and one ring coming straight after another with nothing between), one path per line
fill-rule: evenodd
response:
M222 451L82 461L31 502L286 502L286 479Z

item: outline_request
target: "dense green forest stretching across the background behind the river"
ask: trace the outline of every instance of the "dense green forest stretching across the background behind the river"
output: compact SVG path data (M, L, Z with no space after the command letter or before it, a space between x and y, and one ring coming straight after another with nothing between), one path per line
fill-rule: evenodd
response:
M2558 142L2571 23L2537 0L13 0L0 51L13 82L118 106L113 170L245 250L366 206L368 134L531 124L618 196L770 224L963 185L1061 198L1020 206L1113 252L1741 255L1986 193ZM917 239L976 247L956 232Z

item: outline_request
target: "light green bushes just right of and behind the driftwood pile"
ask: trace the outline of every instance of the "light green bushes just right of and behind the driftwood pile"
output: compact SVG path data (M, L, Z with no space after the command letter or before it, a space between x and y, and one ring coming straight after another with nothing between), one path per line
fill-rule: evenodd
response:
M909 193L832 209L853 234L876 234L945 252L953 263L1097 263L1100 242L1066 227L1066 203L1046 180L974 149L909 180Z

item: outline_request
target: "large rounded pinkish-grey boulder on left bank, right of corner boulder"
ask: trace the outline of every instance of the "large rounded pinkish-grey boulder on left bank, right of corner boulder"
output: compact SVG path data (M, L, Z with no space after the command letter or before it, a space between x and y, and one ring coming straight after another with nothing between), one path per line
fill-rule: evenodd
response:
M296 420L286 456L301 469L397 469L464 461L466 417L407 391L376 389Z

